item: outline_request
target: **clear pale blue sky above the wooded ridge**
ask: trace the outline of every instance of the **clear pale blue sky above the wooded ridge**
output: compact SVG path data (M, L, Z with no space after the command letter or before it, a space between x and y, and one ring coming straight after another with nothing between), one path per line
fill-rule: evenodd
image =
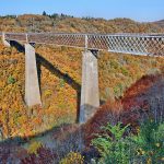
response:
M164 19L164 0L0 0L0 15L63 13L107 20L128 17L139 22Z

